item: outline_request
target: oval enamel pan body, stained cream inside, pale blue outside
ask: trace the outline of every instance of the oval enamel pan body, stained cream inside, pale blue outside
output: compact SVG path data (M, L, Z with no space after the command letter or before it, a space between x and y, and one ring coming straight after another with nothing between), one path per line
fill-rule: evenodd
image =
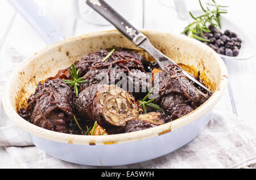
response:
M213 93L205 104L170 123L128 134L85 136L63 134L32 125L17 113L26 106L36 85L84 55L112 46L138 49L117 31L90 33L48 46L21 63L6 83L3 107L9 118L27 131L36 147L61 160L84 165L113 166L151 160L175 151L195 138L210 121L211 110L228 84L220 55L192 38L167 32L142 30L151 43L192 74Z

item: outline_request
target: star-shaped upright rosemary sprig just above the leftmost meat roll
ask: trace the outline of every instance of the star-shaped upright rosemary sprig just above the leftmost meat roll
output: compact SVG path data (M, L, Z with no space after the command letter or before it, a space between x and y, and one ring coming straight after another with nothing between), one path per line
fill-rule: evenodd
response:
M70 88L74 87L74 91L76 96L78 96L79 91L78 91L78 87L80 86L81 83L86 83L88 82L87 80L84 80L84 77L79 78L78 74L79 74L79 70L76 70L76 67L74 65L74 63L72 63L72 71L68 70L69 74L72 78L72 80L67 80L67 79L63 79L63 82L70 85Z

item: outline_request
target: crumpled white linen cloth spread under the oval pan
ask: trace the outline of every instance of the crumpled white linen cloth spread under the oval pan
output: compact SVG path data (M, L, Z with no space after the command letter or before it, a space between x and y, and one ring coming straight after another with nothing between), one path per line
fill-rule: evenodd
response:
M23 61L26 55L10 47L0 70L2 74ZM3 59L1 52L1 59ZM4 55L5 56L5 55ZM0 90L4 80L0 78ZM214 109L212 119L199 136L175 152L133 165L106 168L256 168L256 131L236 115ZM20 168L102 168L59 160L36 148L26 132L14 125L0 105L0 146L5 147ZM1 150L0 150L1 151ZM5 162L1 162L5 163Z

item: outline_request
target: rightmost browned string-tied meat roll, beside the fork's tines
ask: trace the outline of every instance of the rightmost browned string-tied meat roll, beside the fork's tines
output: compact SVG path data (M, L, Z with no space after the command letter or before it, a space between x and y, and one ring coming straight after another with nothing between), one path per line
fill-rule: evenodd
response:
M177 65L168 65L159 72L159 88L155 93L159 95L156 101L164 110L166 122L183 117L207 100Z

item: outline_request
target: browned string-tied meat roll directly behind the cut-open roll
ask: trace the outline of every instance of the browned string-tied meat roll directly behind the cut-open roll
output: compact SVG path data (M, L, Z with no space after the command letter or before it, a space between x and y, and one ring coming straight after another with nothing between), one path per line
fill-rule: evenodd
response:
M106 51L101 50L101 52ZM88 58L93 56L94 63L90 64L91 67L88 68L88 72L84 75L88 82L81 86L82 89L92 84L117 84L118 87L133 93L135 97L139 98L151 86L151 77L144 71L142 65L143 57L141 55L127 51L114 52L109 59L101 62L105 56L98 56L98 52L96 54L97 56L90 54L86 57L87 61L90 62L92 58Z

